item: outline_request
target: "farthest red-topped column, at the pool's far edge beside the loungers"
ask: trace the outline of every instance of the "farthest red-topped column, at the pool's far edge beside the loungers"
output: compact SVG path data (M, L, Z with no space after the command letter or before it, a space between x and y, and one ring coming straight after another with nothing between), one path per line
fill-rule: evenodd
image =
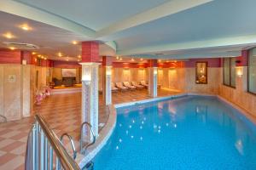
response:
M148 60L148 95L157 97L157 59Z

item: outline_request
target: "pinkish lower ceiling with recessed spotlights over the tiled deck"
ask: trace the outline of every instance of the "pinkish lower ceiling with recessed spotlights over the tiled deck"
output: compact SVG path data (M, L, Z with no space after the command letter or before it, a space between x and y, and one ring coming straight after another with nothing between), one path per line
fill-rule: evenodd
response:
M80 44L73 45L73 41L86 41L87 37L74 33L72 31L66 31L64 29L57 28L55 26L49 26L44 23L28 20L14 14L7 14L0 12L0 34L11 32L15 38L8 39L0 36L0 48L9 48L11 46L5 45L3 42L22 42L32 43L37 45L39 49L33 50L38 54L42 54L49 59L69 59L78 60L79 54L81 54ZM26 23L32 27L32 31L23 31L19 28L20 25ZM108 45L100 45L101 54L114 55L112 48ZM57 54L61 52L63 57L59 57Z

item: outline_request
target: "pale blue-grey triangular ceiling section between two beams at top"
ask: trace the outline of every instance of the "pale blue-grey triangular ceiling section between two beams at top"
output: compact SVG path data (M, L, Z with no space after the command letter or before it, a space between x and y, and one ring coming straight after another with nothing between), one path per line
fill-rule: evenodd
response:
M16 0L98 31L168 0Z

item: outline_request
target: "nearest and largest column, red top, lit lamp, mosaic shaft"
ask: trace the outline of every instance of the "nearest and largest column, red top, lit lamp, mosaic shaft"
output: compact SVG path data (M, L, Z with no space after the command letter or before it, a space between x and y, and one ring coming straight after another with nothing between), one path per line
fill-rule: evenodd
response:
M82 42L82 122L89 122L98 136L98 42ZM83 129L84 141L93 139L88 126Z

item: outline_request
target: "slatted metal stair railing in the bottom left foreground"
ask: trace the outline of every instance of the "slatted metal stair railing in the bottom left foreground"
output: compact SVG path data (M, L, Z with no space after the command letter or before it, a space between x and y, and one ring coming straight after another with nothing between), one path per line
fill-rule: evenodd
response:
M26 170L80 170L43 116L36 115L26 144Z

